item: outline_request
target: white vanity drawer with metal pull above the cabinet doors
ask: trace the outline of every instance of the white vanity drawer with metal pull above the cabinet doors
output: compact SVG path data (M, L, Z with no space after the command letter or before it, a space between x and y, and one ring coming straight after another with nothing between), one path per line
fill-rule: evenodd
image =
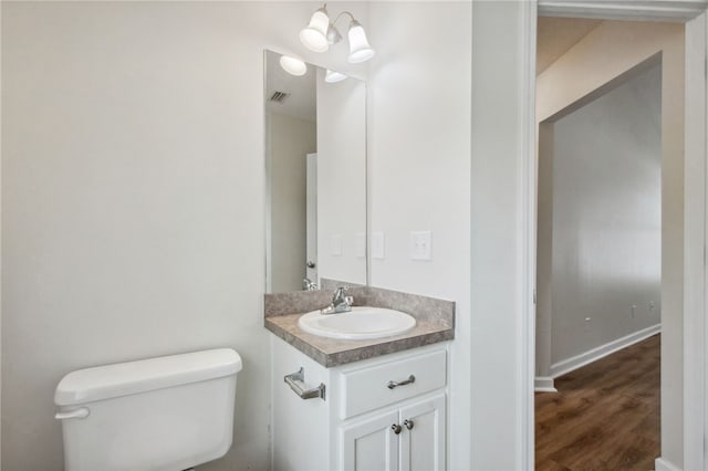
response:
M404 383L398 386L391 381ZM341 418L346 419L445 386L446 350L435 350L342 374Z

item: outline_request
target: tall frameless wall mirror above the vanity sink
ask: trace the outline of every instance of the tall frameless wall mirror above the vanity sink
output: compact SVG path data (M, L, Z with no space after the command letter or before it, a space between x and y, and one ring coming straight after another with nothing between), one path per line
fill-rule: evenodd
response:
M365 83L266 51L264 100L266 291L366 284Z

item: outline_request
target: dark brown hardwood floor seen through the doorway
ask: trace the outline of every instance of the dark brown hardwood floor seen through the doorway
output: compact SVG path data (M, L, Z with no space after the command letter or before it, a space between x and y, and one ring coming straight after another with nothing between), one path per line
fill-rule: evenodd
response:
M659 448L660 336L555 379L535 394L535 469L654 469Z

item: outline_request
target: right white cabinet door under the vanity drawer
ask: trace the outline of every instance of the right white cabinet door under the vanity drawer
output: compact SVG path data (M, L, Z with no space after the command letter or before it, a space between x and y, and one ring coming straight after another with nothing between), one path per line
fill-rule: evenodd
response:
M400 469L445 470L445 395L400 409Z

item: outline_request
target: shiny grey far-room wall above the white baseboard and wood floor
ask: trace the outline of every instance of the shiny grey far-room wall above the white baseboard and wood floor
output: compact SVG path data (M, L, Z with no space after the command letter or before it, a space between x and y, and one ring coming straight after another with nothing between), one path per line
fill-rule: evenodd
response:
M658 64L554 124L552 364L660 322L660 95Z

